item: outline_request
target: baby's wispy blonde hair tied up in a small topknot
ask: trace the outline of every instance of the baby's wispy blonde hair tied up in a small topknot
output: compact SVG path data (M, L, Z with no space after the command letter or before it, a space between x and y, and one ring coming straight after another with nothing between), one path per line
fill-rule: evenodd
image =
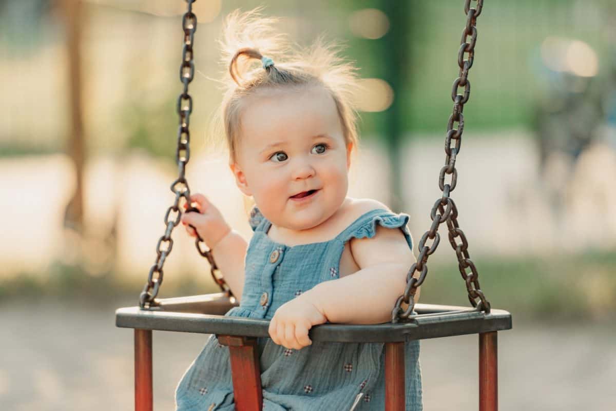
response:
M261 9L233 11L225 18L222 30L222 59L229 70L225 73L227 90L218 121L224 129L231 161L236 159L240 137L241 102L263 89L324 87L336 103L346 143L353 143L356 148L355 66L338 56L339 46L326 44L322 38L308 49L291 50L285 34L275 28L278 18L263 17ZM272 58L274 64L264 68L261 63L264 57Z

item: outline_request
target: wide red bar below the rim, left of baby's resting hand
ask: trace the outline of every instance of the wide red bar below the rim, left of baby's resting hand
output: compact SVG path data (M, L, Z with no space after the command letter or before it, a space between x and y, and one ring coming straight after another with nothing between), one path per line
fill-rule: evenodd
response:
M217 338L219 343L229 346L235 410L261 411L263 392L256 338L232 335L217 335Z

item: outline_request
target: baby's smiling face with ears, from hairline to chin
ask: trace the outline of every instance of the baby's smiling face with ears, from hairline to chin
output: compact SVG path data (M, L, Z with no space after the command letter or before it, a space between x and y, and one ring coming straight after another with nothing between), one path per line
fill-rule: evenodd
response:
M245 104L231 164L238 187L276 226L323 223L346 198L351 164L333 98L305 86L260 90Z

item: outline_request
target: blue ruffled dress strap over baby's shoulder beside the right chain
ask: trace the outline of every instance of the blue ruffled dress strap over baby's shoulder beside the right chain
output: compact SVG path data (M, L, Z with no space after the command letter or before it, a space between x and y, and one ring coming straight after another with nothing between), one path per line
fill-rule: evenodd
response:
M351 238L372 238L376 235L376 225L385 228L400 228L407 240L408 247L413 249L413 237L408 230L408 220L410 216L406 213L393 213L385 209L375 209L364 213L349 225L338 238L342 242L347 242Z

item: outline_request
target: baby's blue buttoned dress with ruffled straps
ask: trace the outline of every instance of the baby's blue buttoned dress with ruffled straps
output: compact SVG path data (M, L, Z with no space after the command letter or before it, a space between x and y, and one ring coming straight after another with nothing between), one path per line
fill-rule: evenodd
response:
M278 307L337 279L344 244L352 237L374 237L376 225L402 229L408 247L408 215L384 209L357 218L326 242L290 247L267 236L271 223L256 207L250 225L254 235L246 252L245 286L240 306L225 316L271 319ZM261 305L264 302L265 305ZM392 301L393 308L393 301ZM300 350L257 338L264 411L354 411L385 409L383 343L313 341ZM422 409L419 341L405 343L407 411ZM176 389L176 411L235 411L229 348L211 335Z

